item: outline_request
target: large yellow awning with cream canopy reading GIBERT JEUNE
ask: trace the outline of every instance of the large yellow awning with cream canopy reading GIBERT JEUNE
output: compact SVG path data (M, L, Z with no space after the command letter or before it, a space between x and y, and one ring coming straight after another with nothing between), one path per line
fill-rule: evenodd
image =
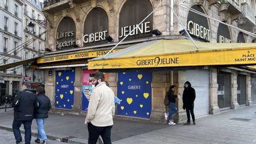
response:
M89 69L150 68L204 65L255 65L255 43L205 43L199 50L188 39L142 42L89 60Z

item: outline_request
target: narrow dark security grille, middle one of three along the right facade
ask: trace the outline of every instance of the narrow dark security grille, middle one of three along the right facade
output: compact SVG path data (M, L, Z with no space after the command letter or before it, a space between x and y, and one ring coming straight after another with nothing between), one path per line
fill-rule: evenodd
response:
M238 75L238 104L245 105L246 104L246 76Z

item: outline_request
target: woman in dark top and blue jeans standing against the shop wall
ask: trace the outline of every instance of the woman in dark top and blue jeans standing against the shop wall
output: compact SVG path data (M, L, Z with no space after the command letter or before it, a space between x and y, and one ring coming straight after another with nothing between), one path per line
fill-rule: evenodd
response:
M176 86L172 85L170 86L169 91L167 92L167 97L169 99L169 115L168 115L168 121L169 125L176 125L173 120L173 114L177 113L177 108L176 108L176 98L178 97L175 93L176 91ZM180 93L178 93L179 95Z

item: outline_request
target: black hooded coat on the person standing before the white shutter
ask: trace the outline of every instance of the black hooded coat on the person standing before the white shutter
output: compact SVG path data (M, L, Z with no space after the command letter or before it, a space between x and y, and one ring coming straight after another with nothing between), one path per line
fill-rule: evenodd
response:
M182 100L183 100L183 107L194 107L194 101L196 99L196 91L193 87L191 87L190 82L185 82L185 84L188 84L188 87L185 87L184 85L184 91L182 94Z

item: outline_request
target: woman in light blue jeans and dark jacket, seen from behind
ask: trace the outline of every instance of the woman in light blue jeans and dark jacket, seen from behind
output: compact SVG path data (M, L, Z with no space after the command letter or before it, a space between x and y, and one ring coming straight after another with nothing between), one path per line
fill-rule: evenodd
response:
M51 101L45 95L45 89L41 86L36 88L37 101L36 101L36 109L34 113L34 118L36 119L37 124L37 139L35 142L40 143L40 139L42 140L42 144L47 144L47 136L44 130L44 124L46 118L48 118L48 112L51 109Z

